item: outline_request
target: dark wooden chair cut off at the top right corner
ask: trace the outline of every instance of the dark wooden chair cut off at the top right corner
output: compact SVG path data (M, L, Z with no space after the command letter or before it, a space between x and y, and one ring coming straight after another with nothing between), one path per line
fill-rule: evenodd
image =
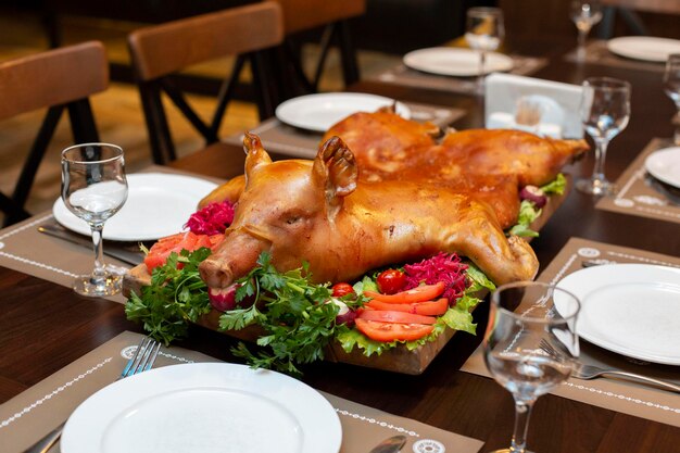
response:
M616 16L620 16L634 35L650 35L638 11L680 15L680 0L602 0L604 7L599 35L609 39L614 35Z

